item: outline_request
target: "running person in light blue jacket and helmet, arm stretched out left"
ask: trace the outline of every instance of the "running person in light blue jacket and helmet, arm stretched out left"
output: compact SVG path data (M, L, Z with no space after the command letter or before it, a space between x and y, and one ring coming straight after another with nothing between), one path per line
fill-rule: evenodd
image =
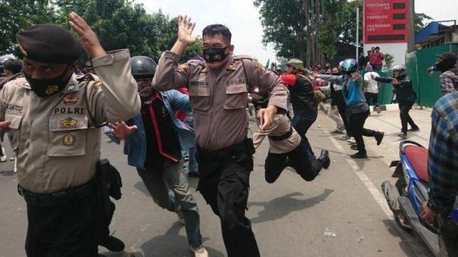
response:
M356 147L352 146L352 150L357 150L356 154L352 154L351 158L368 158L365 150L363 136L374 137L377 140L377 145L382 143L384 132L372 131L364 129L365 120L369 116L369 105L366 103L361 85L363 79L357 72L358 62L354 59L346 59L342 62L342 76L323 75L314 72L315 78L320 78L325 81L330 81L333 84L343 86L342 93L346 104L346 112L349 113L349 129L351 136L356 140Z

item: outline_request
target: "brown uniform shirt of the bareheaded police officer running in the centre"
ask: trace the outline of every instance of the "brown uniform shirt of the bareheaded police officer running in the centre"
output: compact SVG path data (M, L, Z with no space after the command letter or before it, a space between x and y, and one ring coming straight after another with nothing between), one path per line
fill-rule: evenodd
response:
M256 85L261 93L270 92L269 105L286 109L287 91L281 80L248 56L229 58L220 72L200 60L184 65L178 65L178 60L179 55L164 52L152 85L158 91L189 87L196 144L204 149L224 149L247 137L247 85Z

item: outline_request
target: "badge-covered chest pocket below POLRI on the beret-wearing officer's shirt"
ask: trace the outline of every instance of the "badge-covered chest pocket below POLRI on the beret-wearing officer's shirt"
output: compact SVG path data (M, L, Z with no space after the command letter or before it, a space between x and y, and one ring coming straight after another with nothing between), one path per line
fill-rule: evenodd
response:
M49 119L48 156L67 157L86 154L88 117L57 115Z

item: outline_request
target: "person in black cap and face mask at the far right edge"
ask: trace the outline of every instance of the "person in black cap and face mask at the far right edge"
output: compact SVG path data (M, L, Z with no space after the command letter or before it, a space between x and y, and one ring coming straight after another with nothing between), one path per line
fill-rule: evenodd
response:
M440 90L442 95L454 93L458 91L458 70L455 67L457 63L457 55L453 53L442 53L436 55L438 61L433 67L433 70L438 70L440 74Z

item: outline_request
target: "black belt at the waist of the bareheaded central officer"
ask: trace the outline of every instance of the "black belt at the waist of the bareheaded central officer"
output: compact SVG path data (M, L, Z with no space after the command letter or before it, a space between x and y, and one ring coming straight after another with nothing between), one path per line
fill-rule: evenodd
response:
M227 159L227 157L234 156L236 154L254 154L255 147L251 138L245 138L241 143L236 143L227 148L220 150L207 150L198 147L199 157L208 159Z

